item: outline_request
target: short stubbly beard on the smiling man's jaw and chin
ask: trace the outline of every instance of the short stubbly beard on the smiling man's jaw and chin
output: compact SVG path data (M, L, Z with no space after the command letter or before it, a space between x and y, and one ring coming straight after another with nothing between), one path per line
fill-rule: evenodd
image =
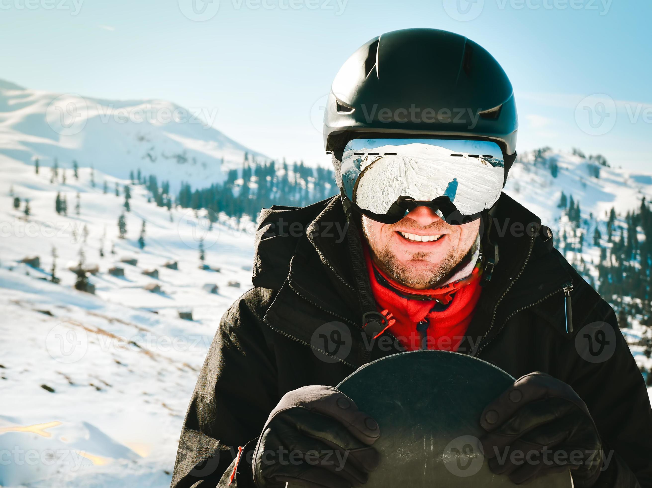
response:
M431 228L421 230L432 230L432 234L439 234L438 229L445 225L444 222L439 222ZM396 258L389 242L378 248L379 239L375 233L370 232L371 229L364 224L362 227L376 265L391 279L410 288L436 288L445 282L451 271L474 249L475 244L475 240L471 241L469 249L452 247L448 254L437 263L428 262L427 258L430 256L430 252L411 252L410 260L406 263Z

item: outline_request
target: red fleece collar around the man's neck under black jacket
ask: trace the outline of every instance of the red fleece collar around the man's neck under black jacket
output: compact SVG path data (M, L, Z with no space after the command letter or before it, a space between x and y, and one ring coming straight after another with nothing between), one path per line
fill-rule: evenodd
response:
M482 290L479 264L468 277L439 288L415 290L383 273L371 259L367 246L363 247L378 311L396 320L390 321L388 328L392 335L410 351L456 351Z

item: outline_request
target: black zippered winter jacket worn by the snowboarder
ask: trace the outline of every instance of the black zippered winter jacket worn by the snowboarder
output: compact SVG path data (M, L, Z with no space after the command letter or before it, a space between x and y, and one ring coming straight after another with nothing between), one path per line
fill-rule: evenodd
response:
M500 259L458 352L514 378L542 371L571 385L587 404L604 450L615 451L599 486L635 486L633 472L642 487L652 487L652 410L614 311L552 247L552 234L535 215L503 194L495 217L491 235ZM255 288L231 305L215 333L188 406L172 487L227 486L238 448L249 442L231 484L248 486L246 455L284 393L336 386L365 359L392 353L374 346L365 356L362 333L353 334L345 358L333 358L314 340L328 322L361 330L351 258L340 234L345 223L339 196L263 211ZM571 333L564 307L570 284ZM576 335L593 322L614 331L614 354L603 362L586 361L576 348Z

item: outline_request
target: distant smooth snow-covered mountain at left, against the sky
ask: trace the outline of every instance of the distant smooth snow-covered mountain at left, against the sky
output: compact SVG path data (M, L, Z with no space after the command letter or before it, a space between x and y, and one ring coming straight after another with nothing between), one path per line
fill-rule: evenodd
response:
M211 127L216 115L216 108L61 95L0 80L0 154L42 166L57 159L60 168L76 160L123 179L140 168L173 191L181 181L209 186L240 167L245 153L267 160Z

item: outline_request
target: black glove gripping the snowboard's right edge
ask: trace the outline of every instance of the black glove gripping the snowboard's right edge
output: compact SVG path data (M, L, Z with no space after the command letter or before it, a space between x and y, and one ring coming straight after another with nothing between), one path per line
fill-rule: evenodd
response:
M484 457L496 474L520 485L571 470L576 487L591 487L602 468L602 446L586 404L546 373L518 378L482 412ZM529 457L528 457L529 455Z

